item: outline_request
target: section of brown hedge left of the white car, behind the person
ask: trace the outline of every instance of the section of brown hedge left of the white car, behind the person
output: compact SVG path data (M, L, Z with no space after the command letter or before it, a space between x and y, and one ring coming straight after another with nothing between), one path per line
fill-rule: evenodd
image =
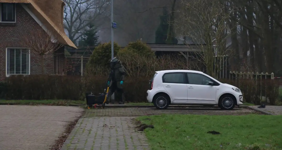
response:
M124 94L127 101L146 102L147 78L126 78ZM29 75L10 76L6 79L5 99L68 99L84 100L85 92L99 94L106 87L107 76L57 76Z

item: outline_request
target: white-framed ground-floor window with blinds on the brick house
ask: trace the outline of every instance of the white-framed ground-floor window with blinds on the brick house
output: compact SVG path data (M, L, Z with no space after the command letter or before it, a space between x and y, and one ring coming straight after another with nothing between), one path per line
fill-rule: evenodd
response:
M7 48L7 76L30 74L30 54L28 49Z

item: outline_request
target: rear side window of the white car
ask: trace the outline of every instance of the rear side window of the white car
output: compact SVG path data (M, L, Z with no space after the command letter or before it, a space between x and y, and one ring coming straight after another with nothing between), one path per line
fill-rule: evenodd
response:
M185 74L181 72L166 73L162 76L163 83L185 83Z

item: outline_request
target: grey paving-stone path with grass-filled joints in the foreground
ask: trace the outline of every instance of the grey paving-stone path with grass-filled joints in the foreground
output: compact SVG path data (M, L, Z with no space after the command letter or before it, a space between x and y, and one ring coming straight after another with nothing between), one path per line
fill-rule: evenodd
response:
M149 150L133 117L81 118L61 150Z

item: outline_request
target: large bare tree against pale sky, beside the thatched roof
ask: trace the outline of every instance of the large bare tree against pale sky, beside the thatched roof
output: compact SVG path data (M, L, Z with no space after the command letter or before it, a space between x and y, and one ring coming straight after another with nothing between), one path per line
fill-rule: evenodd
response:
M64 28L70 40L75 42L81 37L88 22L94 22L96 27L102 24L103 18L109 15L107 8L109 0L63 0Z

